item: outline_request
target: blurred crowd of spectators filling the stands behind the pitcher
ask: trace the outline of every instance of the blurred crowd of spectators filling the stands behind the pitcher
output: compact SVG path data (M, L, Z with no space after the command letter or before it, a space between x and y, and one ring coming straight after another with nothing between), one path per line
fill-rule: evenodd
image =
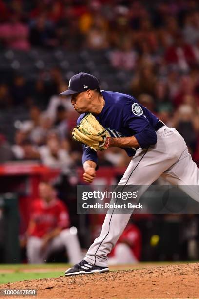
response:
M0 47L107 51L109 66L128 74L128 92L177 128L199 163L197 0L156 0L150 5L136 0L0 0ZM30 115L15 123L14 145L1 133L1 162L40 160L60 166L65 174L80 165L81 148L71 140L78 115L69 99L58 96L67 84L58 67L40 71L31 84L22 73L13 73L9 82L0 79L0 109L22 106ZM129 162L115 148L100 153L99 160L107 166Z

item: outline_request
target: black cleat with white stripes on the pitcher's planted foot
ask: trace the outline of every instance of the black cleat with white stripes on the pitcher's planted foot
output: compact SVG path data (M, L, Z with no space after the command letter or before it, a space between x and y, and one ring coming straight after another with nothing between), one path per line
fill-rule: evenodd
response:
M77 274L89 274L89 273L103 273L108 271L109 271L108 267L94 266L88 263L86 260L82 259L74 267L66 270L65 276L77 275Z

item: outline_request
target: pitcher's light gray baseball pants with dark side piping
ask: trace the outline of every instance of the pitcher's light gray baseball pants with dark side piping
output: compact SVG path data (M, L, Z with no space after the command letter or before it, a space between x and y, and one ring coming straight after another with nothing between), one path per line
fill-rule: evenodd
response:
M119 185L151 185L162 176L172 185L199 201L199 169L188 152L186 143L175 128L163 126L157 131L157 143L138 149ZM198 185L194 190L191 186ZM139 197L148 187L140 187ZM197 192L196 192L197 189ZM139 200L139 198L137 198ZM84 259L97 266L107 266L107 255L115 246L131 214L106 214L101 234L90 246Z

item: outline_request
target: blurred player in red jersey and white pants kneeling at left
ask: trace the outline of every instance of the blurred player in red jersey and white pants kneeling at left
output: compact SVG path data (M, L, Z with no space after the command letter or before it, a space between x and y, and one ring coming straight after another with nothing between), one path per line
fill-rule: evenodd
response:
M39 184L40 198L33 201L28 227L27 258L32 264L46 261L48 256L65 247L70 263L81 259L77 229L69 228L66 206L56 198L54 188L46 182Z

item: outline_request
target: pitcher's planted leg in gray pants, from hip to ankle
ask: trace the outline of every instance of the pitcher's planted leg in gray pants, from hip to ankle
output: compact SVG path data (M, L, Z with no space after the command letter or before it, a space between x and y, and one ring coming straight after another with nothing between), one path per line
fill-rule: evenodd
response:
M178 161L180 135L166 126L157 132L157 144L149 149L139 149L126 169L119 185L139 185L137 201L147 188L171 165ZM181 139L180 139L181 140ZM131 214L109 214L101 234L89 248L85 260L93 265L107 266L107 255L115 246Z

